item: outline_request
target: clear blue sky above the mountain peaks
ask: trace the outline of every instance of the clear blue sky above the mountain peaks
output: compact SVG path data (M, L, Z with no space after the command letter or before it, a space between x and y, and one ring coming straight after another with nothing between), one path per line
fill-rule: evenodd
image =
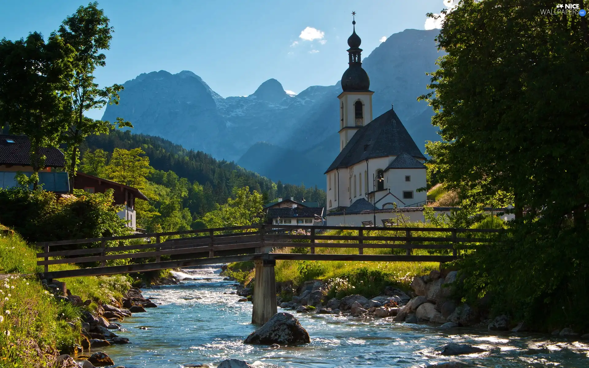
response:
M48 35L87 4L3 0L0 38L18 39L32 31ZM295 93L310 85L335 84L348 67L352 11L363 56L368 56L383 37L424 29L425 14L444 8L441 0L102 0L99 5L115 30L105 52L107 65L95 74L100 85L123 83L144 72L186 69L223 97L252 94L269 78Z

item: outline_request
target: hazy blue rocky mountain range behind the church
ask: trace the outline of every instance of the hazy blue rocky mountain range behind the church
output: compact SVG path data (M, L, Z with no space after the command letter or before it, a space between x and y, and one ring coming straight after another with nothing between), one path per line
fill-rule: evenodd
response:
M442 55L434 41L438 32L406 29L363 59L375 91L373 117L394 104L421 150L426 140L438 140L431 107L416 100L428 92L425 73L436 70ZM323 171L339 152L339 82L290 95L269 79L247 97L227 98L190 71L150 72L123 85L120 104L108 105L103 120L123 117L135 132L237 161L273 180L325 188Z

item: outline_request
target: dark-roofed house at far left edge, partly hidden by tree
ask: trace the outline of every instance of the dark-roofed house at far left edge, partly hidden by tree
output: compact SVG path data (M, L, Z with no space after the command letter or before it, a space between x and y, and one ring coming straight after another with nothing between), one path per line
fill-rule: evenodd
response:
M69 193L70 180L64 171L64 154L55 147L41 148L40 152L45 155L45 168L38 172L39 184L47 191ZM0 134L0 187L17 187L18 171L29 177L34 171L31 142L26 135Z

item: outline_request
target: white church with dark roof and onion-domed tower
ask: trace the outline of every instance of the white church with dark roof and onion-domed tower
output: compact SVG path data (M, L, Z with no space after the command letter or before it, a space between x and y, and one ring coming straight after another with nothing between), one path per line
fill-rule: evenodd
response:
M425 191L418 191L426 186L425 156L392 105L391 110L372 118L374 92L362 68L356 21L352 25L349 67L342 75L342 93L337 97L340 152L325 171L327 225L361 226L370 221L382 226L376 224L377 218L385 224L398 211L418 220L423 218L427 197Z

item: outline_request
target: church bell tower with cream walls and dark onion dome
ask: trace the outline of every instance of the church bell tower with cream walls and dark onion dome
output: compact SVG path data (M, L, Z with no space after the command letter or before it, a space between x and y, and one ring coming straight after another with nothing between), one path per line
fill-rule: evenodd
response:
M352 12L355 16L356 12ZM355 17L354 17L355 18ZM348 69L342 75L343 92L339 98L340 147L342 151L356 131L372 121L372 94L370 78L362 68L360 44L362 40L356 34L356 20L352 21L353 32L348 38Z

